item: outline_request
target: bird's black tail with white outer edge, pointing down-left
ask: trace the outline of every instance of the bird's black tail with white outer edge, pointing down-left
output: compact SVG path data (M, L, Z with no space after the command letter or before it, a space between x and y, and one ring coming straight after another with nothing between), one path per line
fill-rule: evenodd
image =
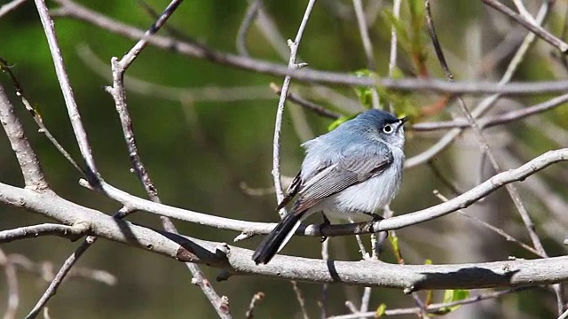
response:
M280 252L280 249L288 243L290 237L294 235L300 226L303 215L304 212L300 214L287 214L276 227L264 237L264 240L256 247L256 251L252 255L252 260L255 261L256 265L259 263L268 263L276 253Z

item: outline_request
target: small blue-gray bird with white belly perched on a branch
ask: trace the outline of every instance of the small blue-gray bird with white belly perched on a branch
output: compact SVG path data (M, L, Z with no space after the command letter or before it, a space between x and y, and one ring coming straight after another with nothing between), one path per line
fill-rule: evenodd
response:
M266 264L288 243L309 215L358 219L390 203L402 179L404 123L390 113L369 110L302 146L302 169L278 209L297 195L292 210L264 237L252 256Z

